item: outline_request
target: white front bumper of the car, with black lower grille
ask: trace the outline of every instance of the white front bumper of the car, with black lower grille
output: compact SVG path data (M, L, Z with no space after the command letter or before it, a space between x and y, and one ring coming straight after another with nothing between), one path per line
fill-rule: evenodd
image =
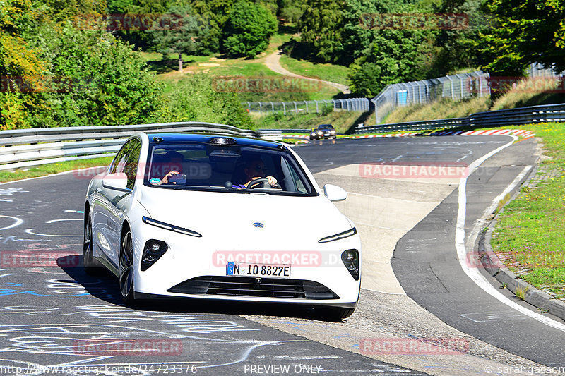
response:
M361 250L359 236L351 236L340 241L326 244L310 244L302 247L309 249L301 251L299 248L291 250L262 250L266 247L258 244L239 245L236 249L225 251L218 245L218 239L210 239L203 236L195 238L173 231L159 229L155 226L140 224L141 228L133 231L135 252L135 280L134 290L138 298L196 298L213 299L216 301L252 301L268 303L292 303L307 305L327 305L341 308L355 308L359 298L360 277L355 280L343 262L341 253L347 249ZM140 235L141 234L141 235ZM140 260L145 242L150 239L165 241L169 247L167 252L160 257L155 264L147 270L141 271ZM222 250L223 249L223 250ZM238 257L242 253L249 253L249 249L261 250L261 253L279 254L280 252L308 253L316 260L310 265L290 264L290 278L278 279L280 289L268 285L277 285L270 281L272 277L254 276L242 282L240 289L230 287L230 284L238 284L242 277L227 276L227 262L234 261L230 258ZM253 251L258 252L258 251ZM230 257L233 255L234 257ZM221 256L221 257L220 257ZM238 260L235 260L238 261ZM261 263L261 262L257 262ZM274 265L277 263L273 262ZM209 279L209 280L208 280ZM253 279L261 279L259 283L253 284ZM268 281L267 281L268 280ZM233 282L232 282L233 281ZM186 285L186 289L174 289ZM302 284L297 291L287 284ZM318 286L319 285L319 286ZM196 288L196 287L197 288ZM229 288L227 288L228 286ZM283 293L277 295L270 290ZM287 293L288 289L292 293ZM326 290L327 289L327 290ZM176 291L176 292L175 292ZM332 298L324 298L328 295L313 293L316 291L331 291L335 294Z

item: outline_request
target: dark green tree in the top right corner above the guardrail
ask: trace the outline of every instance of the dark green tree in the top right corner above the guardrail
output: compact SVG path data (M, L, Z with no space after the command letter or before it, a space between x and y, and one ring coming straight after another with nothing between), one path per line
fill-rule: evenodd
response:
M565 0L494 0L487 4L496 26L485 32L484 69L523 75L530 63L565 70Z

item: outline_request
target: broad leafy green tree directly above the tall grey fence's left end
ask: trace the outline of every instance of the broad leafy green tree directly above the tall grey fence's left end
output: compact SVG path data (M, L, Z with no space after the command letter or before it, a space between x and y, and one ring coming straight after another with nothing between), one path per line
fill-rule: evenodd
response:
M426 76L437 31L420 22L422 14L403 1L347 0L343 62L355 59L348 73L352 93L373 97L388 84Z

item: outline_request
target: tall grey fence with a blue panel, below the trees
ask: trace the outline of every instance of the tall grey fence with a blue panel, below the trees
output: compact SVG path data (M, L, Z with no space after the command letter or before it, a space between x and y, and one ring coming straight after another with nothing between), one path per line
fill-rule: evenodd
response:
M379 95L371 99L375 105L376 123L380 123L397 107L435 102L444 97L461 100L473 96L489 95L488 78L488 73L476 71L387 85Z

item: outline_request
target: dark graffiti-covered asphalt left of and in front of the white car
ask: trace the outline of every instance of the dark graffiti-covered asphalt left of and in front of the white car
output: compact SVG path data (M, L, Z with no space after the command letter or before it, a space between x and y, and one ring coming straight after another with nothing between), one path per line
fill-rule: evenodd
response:
M156 303L139 310L124 307L117 279L89 277L83 272L82 256L76 256L82 253L87 185L83 176L63 174L0 186L4 257L0 270L0 365L22 367L24 373L20 374L25 375L41 374L39 365L63 365L77 375L88 374L80 372L81 366L90 375L192 375L194 370L198 375L251 375L253 370L266 369L258 368L260 365L290 367L291 375L306 371L407 374L407 370L233 314L260 312L251 306ZM4 267L12 262L14 252L52 254L61 267L53 262L45 267ZM87 339L90 342L85 342ZM93 339L109 344L108 350L98 346L90 353L86 345L93 344ZM153 355L112 348L112 341L126 339L133 344L139 341L140 346L160 347ZM10 371L0 368L0 373Z

